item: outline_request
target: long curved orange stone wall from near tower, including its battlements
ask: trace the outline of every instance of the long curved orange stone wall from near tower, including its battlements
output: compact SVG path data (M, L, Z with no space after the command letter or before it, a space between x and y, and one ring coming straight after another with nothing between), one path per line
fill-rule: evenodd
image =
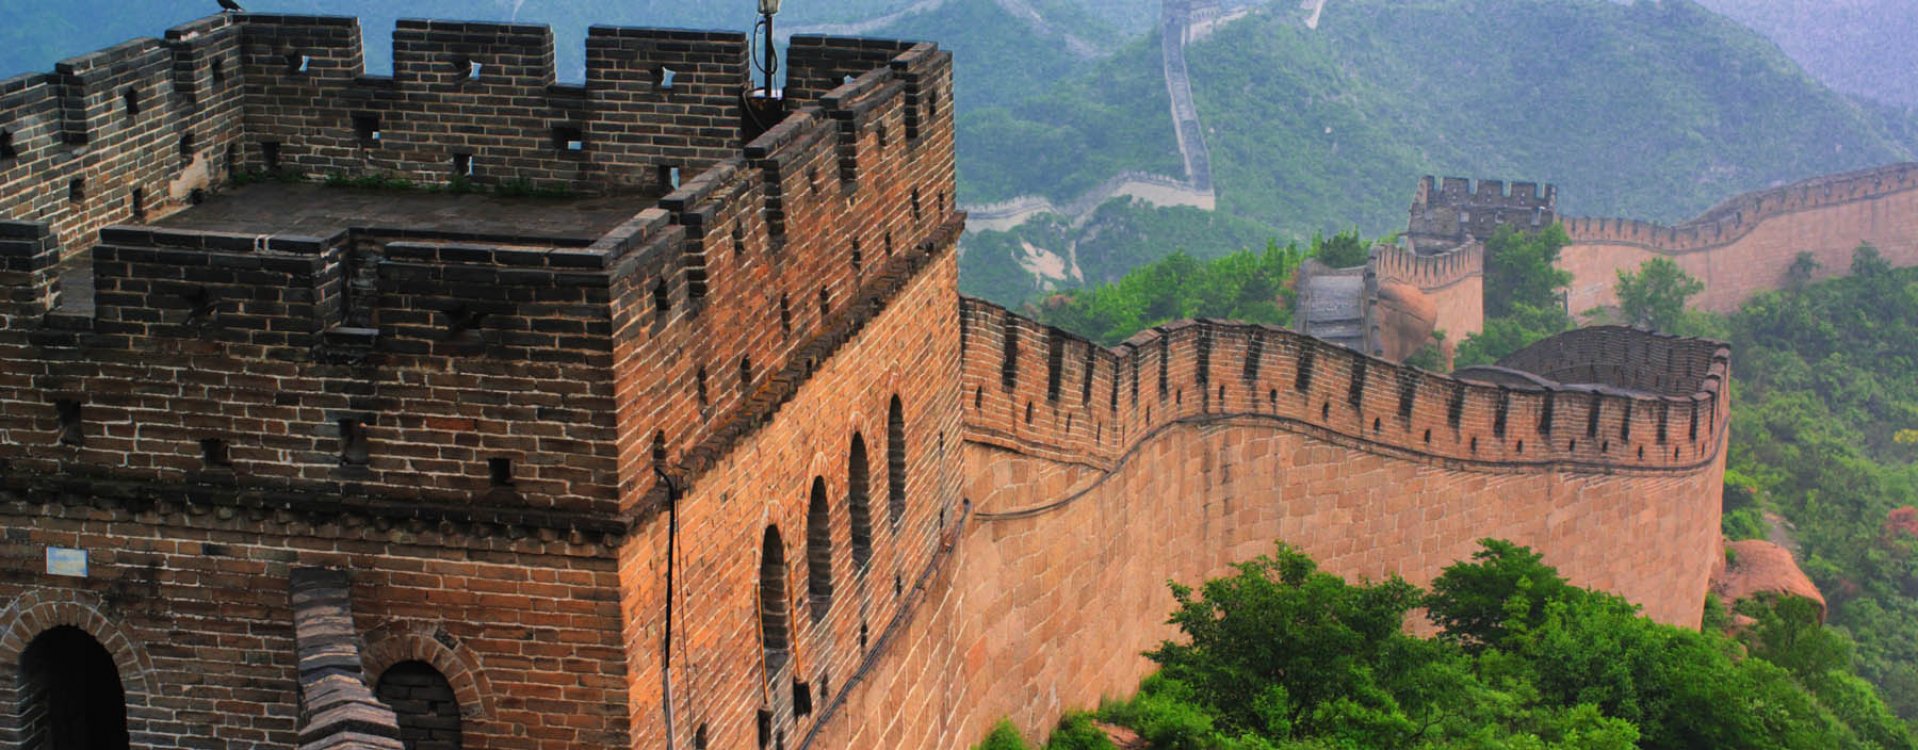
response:
M1504 537L1651 618L1699 621L1722 554L1717 345L1607 328L1511 363L1565 372L1632 351L1686 372L1669 389L1688 397L1659 397L1623 389L1655 376L1603 366L1605 393L1517 389L1256 326L1178 324L1103 351L988 303L961 313L967 512L848 717L802 746L965 746L1003 715L1041 737L1135 689L1139 654L1172 635L1166 579L1220 575L1275 541L1354 579L1427 583Z

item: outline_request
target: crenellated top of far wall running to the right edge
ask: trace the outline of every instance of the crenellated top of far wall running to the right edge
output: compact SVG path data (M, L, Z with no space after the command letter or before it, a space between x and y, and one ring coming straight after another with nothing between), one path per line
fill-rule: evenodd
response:
M1784 188L1743 194L1676 226L1636 219L1565 219L1565 232L1573 244L1632 246L1678 255L1738 242L1766 219L1878 199L1906 190L1918 190L1918 163L1828 175Z

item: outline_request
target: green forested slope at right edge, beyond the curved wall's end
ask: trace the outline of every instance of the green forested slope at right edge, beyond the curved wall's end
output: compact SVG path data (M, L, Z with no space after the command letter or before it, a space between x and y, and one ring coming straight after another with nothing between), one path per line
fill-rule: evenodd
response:
M1918 269L1860 251L1851 278L1761 295L1728 328L1726 531L1795 541L1860 671L1918 719Z

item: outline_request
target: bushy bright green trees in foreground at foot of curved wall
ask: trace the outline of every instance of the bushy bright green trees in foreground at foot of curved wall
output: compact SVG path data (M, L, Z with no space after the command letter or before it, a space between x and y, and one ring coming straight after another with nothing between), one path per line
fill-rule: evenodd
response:
M1431 595L1346 583L1285 545L1235 568L1172 587L1180 639L1147 654L1160 671L1107 721L1160 750L1910 748L1843 639L1795 604L1757 612L1736 656L1504 541ZM1404 631L1419 604L1438 637Z

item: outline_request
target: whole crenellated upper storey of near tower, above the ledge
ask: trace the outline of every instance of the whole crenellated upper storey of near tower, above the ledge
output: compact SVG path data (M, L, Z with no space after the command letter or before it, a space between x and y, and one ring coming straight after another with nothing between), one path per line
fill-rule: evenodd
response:
M403 21L391 77L359 38L222 15L0 84L0 370L61 372L0 391L12 470L612 518L953 240L934 44L796 38L748 142L744 35L595 27L583 86L545 27Z

